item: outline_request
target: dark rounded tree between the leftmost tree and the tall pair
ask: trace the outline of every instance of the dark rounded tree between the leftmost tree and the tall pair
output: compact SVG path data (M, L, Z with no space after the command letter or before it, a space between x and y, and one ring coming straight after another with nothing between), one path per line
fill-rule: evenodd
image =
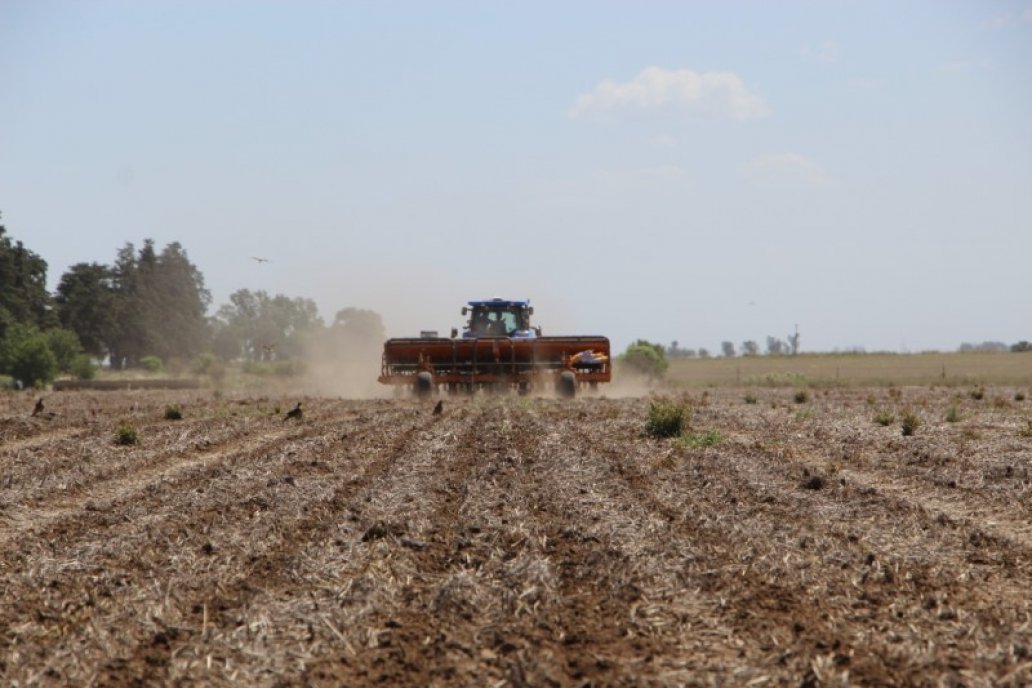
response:
M72 265L61 275L54 300L61 326L78 335L87 353L106 356L118 330L115 270L100 263Z

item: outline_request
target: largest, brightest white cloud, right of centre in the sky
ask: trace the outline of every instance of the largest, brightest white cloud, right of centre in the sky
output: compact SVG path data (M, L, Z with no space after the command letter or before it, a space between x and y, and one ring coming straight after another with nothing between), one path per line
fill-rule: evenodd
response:
M730 71L648 67L630 81L607 79L577 98L571 118L620 110L679 109L721 114L735 120L764 117L766 101Z

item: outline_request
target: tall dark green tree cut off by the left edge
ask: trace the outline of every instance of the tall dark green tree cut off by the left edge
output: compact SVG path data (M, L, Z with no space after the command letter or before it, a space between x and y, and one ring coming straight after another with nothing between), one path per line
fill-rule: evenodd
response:
M12 242L0 225L0 309L14 323L38 328L57 324L46 291L46 261L21 241ZM0 326L3 322L0 321ZM0 337L4 333L0 331Z

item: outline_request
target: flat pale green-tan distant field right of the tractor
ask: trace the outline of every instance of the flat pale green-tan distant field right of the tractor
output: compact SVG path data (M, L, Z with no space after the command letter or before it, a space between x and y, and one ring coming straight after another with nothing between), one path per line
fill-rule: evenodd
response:
M1032 385L1032 354L803 354L675 359L677 387Z

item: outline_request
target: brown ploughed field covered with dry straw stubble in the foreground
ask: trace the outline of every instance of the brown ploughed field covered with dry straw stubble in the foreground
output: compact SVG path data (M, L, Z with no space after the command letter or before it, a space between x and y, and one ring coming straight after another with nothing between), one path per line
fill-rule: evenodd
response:
M1028 685L1032 390L973 391L6 394L0 682Z

